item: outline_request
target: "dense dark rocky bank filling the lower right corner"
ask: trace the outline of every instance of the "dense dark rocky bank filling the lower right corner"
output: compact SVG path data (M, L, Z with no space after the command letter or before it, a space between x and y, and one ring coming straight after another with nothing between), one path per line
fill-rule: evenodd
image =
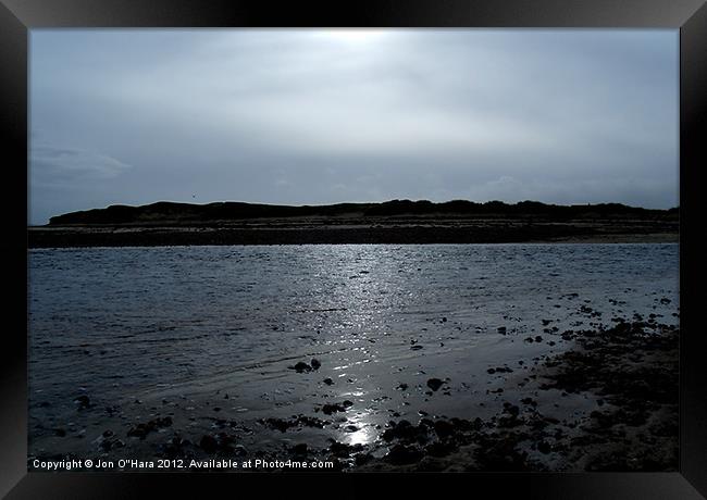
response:
M390 423L395 442L361 470L674 472L678 470L679 329L655 320L566 332L575 348L525 378L529 393L590 393L596 409L558 421L533 397L505 401L488 421ZM532 379L532 382L531 382Z

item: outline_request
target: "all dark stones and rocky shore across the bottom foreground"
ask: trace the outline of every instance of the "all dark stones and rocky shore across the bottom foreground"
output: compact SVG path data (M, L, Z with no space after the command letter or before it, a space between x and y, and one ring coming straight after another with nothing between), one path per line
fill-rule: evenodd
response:
M352 401L331 401L318 407L315 416L264 417L247 424L214 416L212 430L201 435L158 412L128 426L123 422L126 433L107 428L94 445L97 454L107 459L141 447L142 454L151 453L152 459L321 460L333 461L331 471L350 472L677 471L679 328L659 324L655 314L613 317L611 322L611 327L597 324L583 330L549 328L558 341L569 342L567 349L518 362L531 365L529 370L488 368L488 373L505 377L504 386L491 391L495 397L489 397L487 404L498 407L491 417L419 412L421 418L410 422L392 415L387 424L377 426L376 439L368 443L330 438L327 446L319 446L306 436L333 427L349 432L342 428L347 425L342 415L355 409ZM534 342L535 338L524 340ZM299 362L292 368L315 371L319 363ZM430 396L442 395L447 385L447 379L427 376L425 390ZM397 390L408 387L401 385ZM582 411L554 416L557 403L572 398ZM111 408L98 408L88 396L76 398L74 404L77 415L94 411L113 414ZM211 410L218 415L214 404ZM241 443L244 436L264 430L282 437L287 443L282 451L261 453ZM53 432L57 439L70 439L66 429ZM37 457L30 454L30 470Z

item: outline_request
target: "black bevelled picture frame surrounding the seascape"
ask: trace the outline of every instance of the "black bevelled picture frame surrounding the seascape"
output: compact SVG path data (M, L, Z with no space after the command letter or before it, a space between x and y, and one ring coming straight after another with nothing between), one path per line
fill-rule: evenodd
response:
M79 474L27 472L27 49L40 27L621 27L680 29L680 465L678 473ZM707 166L707 5L704 0L0 0L0 122L5 196L0 242L7 293L0 371L0 495L8 498L204 496L214 487L287 497L368 497L379 486L415 493L544 499L707 496L707 363L700 328L705 276L699 220ZM11 196L12 195L12 196ZM24 291L23 291L24 290ZM375 476L375 477L372 477ZM251 493L249 493L251 495ZM482 496L484 498L484 496Z

